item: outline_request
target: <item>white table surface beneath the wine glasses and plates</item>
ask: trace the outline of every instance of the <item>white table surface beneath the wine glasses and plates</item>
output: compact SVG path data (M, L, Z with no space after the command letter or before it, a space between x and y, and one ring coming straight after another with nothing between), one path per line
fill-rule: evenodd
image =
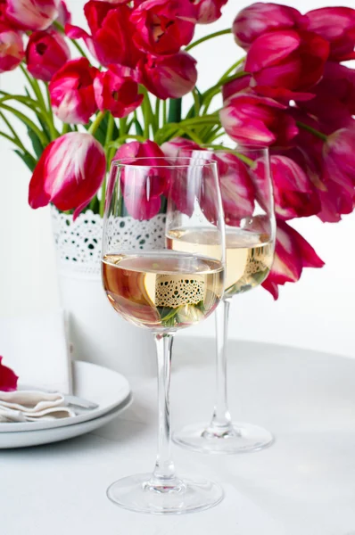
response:
M213 355L211 340L177 336L173 427L207 422ZM232 415L277 441L239 456L174 447L179 473L226 491L219 506L182 516L131 513L105 496L112 481L153 468L156 384L131 383L133 405L97 432L0 452L1 535L355 535L355 359L230 342Z

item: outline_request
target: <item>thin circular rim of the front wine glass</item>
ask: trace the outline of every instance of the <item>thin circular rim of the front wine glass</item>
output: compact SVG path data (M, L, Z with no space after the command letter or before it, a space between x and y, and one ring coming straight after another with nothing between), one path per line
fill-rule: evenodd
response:
M142 163L135 163L136 161L150 161L150 163L147 165L143 165ZM169 161L171 162L170 164L164 163ZM185 161L186 163L178 163L178 161ZM131 156L130 158L120 158L117 160L112 160L111 165L115 167L137 169L191 169L208 166L215 167L217 166L217 161L212 160L210 158L196 159L189 158L187 156L140 156L137 158L135 156Z

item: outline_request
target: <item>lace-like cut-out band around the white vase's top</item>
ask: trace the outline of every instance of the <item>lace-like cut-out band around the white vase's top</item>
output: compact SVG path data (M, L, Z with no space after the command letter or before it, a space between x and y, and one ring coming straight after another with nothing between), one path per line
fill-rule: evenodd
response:
M114 243L125 249L159 249L165 240L165 214L158 214L147 221L131 217L114 218L109 221L110 245ZM101 269L101 243L103 218L87 210L75 221L52 206L54 243L59 268L87 275L99 275Z

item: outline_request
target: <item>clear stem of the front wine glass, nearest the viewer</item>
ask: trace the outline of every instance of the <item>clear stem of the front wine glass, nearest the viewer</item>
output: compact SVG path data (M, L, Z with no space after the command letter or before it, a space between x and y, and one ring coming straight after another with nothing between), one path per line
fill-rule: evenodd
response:
M169 384L173 334L155 333L154 339L158 358L159 434L158 454L149 484L156 490L162 488L166 490L167 488L176 488L181 483L175 476L175 466L171 459Z

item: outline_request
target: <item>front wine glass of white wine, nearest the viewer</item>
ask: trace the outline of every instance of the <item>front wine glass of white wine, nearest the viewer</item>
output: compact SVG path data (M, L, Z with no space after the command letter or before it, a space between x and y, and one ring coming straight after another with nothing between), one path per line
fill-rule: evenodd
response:
M139 225L161 212L166 213L166 224L191 229L193 243L211 233L213 251L171 251L164 232L148 249L144 240L132 248L130 236L122 237L125 217ZM173 336L216 309L223 296L224 268L225 230L215 162L162 157L112 162L103 221L103 288L121 317L151 330L158 358L155 468L152 474L131 475L111 484L108 497L119 506L142 513L181 514L215 506L223 498L216 483L190 481L175 472L170 454L169 381Z

